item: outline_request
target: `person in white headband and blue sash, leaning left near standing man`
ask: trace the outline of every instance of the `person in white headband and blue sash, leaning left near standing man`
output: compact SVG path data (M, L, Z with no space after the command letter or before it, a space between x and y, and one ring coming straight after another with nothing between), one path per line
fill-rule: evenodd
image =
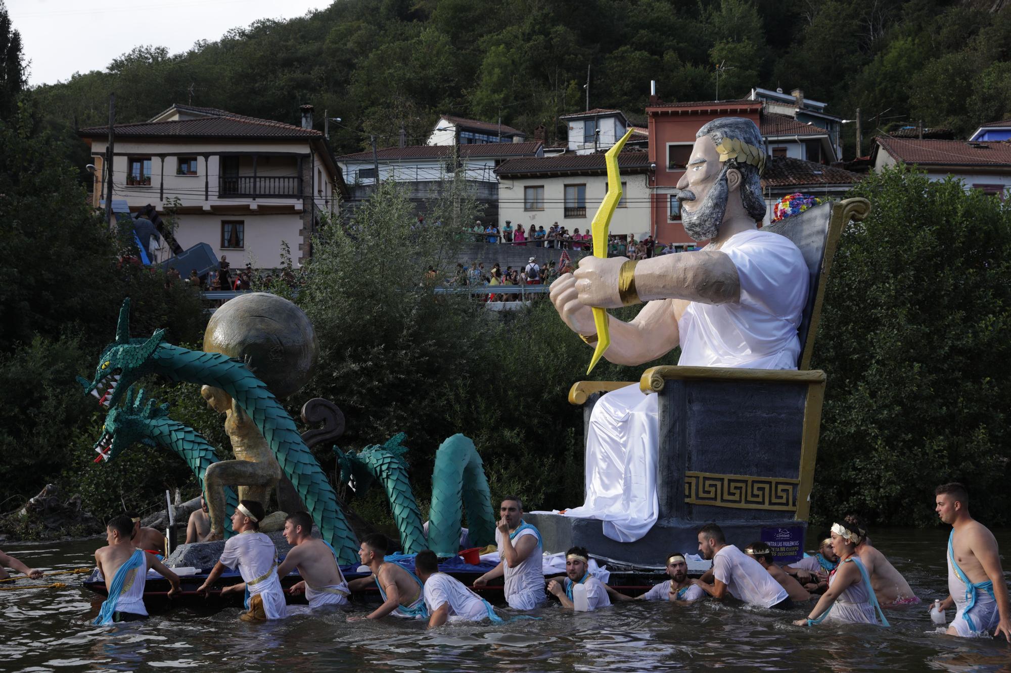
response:
M813 627L825 620L889 626L870 586L870 575L856 554L863 532L853 527L849 523L832 524L832 549L839 557L839 567L829 577L828 589L807 618L794 622L798 627Z

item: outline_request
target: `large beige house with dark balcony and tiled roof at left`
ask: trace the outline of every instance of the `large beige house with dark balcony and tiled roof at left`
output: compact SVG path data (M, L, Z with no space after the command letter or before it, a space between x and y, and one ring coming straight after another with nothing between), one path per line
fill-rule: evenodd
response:
M175 207L183 250L208 244L233 268L281 265L282 242L297 265L308 258L323 213L347 192L340 169L312 129L224 110L176 104L146 122L116 124L112 198L131 212ZM105 198L107 126L83 128L95 165L93 205ZM162 253L163 261L171 252Z

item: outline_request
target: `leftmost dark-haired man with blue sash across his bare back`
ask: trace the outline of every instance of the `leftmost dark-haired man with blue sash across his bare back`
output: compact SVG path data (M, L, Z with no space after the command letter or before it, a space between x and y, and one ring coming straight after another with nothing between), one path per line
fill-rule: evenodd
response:
M166 568L158 557L133 546L134 528L135 523L129 516L120 514L109 519L105 526L108 546L95 552L95 565L105 578L109 596L95 618L96 624L133 621L148 616L144 605L144 585L149 568L154 568L172 584L169 598L179 593L179 576Z

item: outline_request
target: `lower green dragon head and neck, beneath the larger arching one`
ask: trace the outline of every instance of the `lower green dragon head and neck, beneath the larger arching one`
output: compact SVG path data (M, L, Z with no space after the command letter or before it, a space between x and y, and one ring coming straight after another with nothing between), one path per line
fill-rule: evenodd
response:
M169 405L159 405L141 389L134 395L134 388L126 391L123 406L116 406L105 416L102 437L95 443L98 458L95 462L115 460L129 447L143 443L152 447L171 449L179 455L196 476L200 490L204 490L203 475L207 468L217 462L214 448L203 436L192 427L169 418ZM224 487L224 500L228 510L239 504L236 492ZM224 537L235 535L232 521L224 519Z

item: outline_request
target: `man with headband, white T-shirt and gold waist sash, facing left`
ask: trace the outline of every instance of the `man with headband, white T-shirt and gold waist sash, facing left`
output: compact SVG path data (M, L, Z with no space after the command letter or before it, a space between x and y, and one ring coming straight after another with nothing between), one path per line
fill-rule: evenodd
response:
M236 535L224 543L221 558L214 564L207 579L196 590L207 595L211 585L225 569L239 567L243 582L226 587L222 594L246 591L247 612L240 615L243 621L283 619L288 615L284 590L277 576L277 548L274 541L260 533L260 521L265 512L255 500L242 500L232 514L232 530Z

